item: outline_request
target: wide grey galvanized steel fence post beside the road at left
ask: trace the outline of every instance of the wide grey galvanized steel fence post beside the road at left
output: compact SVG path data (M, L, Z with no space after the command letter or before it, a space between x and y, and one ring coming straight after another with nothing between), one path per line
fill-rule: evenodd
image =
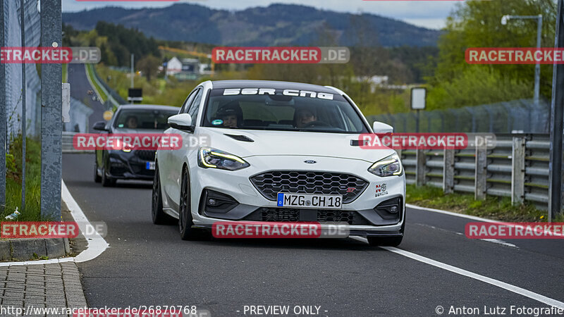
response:
M61 0L41 1L41 46L62 46L62 20ZM47 63L41 70L41 215L61 220L63 68Z

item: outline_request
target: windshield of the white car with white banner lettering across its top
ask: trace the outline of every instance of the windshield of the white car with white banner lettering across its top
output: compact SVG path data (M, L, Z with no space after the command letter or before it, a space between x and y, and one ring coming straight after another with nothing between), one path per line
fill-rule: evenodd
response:
M353 106L339 94L295 89L212 89L204 127L364 133Z

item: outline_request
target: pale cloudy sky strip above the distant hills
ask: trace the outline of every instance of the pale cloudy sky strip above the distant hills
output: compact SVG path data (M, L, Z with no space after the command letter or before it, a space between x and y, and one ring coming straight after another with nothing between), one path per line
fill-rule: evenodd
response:
M102 6L125 8L162 7L178 2L202 4L211 8L242 10L269 4L302 4L316 8L351 13L374 13L403 20L422 27L439 29L444 26L448 13L460 1L362 1L362 0L180 0L180 1L77 1L62 0L63 12L82 11ZM111 21L110 21L111 22Z

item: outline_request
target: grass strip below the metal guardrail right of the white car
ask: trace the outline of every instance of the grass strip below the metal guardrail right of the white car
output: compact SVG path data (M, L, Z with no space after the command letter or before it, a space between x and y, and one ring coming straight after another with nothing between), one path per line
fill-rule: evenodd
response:
M407 185L405 201L407 204L493 220L514 222L545 222L547 220L546 211L541 211L532 204L513 206L508 197L491 196L484 201L477 201L474 200L473 194L444 194L443 189L431 186ZM554 221L564 222L564 217L559 215Z

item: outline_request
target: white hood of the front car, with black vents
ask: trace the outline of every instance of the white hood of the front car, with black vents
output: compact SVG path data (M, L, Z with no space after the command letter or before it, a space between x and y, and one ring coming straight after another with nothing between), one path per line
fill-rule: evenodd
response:
M395 153L393 149L361 149L351 145L358 134L198 128L209 146L242 158L249 156L329 156L374 163ZM230 137L228 135L232 135ZM238 139L251 139L253 142Z

